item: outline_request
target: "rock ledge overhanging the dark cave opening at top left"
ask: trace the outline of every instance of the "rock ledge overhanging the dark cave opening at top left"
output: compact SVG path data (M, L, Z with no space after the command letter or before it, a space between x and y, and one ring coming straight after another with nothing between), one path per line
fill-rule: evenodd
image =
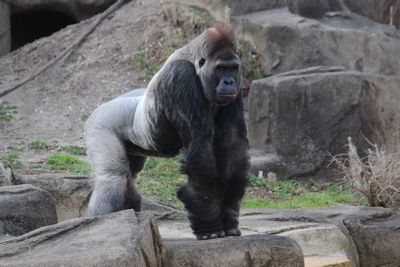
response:
M104 10L115 0L13 0L13 12L49 9L70 15L76 20L86 19Z

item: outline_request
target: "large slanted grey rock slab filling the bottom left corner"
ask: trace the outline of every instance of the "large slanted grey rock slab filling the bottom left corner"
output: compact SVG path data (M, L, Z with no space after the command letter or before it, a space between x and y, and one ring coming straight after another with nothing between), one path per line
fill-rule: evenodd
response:
M149 214L125 210L80 218L0 241L1 266L161 266L162 245Z

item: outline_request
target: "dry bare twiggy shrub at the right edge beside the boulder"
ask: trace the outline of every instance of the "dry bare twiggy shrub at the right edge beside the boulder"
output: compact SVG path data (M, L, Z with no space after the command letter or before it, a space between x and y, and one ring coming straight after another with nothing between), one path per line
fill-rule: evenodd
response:
M345 181L368 199L370 206L398 207L400 204L400 149L370 143L367 156L360 158L351 137L348 152L333 157Z

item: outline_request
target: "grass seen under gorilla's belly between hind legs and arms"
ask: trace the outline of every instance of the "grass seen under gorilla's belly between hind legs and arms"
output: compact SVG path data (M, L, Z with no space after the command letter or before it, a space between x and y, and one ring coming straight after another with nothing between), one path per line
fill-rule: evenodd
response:
M140 193L182 209L183 204L176 197L176 190L186 183L186 177L179 172L179 167L179 157L149 158L143 171L139 173Z

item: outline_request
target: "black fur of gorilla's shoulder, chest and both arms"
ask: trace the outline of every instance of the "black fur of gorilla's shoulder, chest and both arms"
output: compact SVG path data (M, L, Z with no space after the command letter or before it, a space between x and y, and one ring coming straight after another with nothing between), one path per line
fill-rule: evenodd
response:
M171 136L179 136L182 172L189 178L178 190L178 198L189 212L196 235L227 233L238 226L249 169L242 96L229 105L213 107L193 64L184 60L171 62L159 79L156 114L162 114L160 121L168 120Z

